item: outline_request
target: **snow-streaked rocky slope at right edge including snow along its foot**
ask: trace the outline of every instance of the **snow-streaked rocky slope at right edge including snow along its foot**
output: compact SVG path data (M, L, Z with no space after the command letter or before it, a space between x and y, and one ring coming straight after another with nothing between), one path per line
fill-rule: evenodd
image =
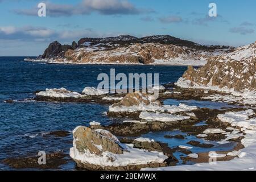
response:
M212 57L199 69L189 66L176 85L232 94L215 94L204 99L256 105L255 58L256 43L237 48L234 52Z

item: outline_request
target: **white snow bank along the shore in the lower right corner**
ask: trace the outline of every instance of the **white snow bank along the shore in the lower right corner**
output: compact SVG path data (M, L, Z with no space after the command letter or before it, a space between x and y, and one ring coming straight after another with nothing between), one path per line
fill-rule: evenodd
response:
M238 151L238 157L234 158L230 161L222 161L216 163L216 165L210 164L210 163L200 163L200 164L194 164L194 165L185 165L185 166L175 166L175 167L164 167L164 168L144 168L142 170L163 170L163 171L177 171L177 170L191 170L191 171L202 171L202 170L208 170L208 171L241 171L241 170L256 170L256 126L254 121L256 120L255 117L250 118L249 116L251 114L255 114L252 112L252 110L247 111L240 111L240 112L232 112L233 115L236 117L233 117L230 113L225 113L218 115L221 119L223 119L222 122L229 122L232 123L233 126L239 125L242 126L243 122L250 122L251 125L248 126L247 123L241 128L241 130L246 134L242 140L241 143L245 148ZM233 152L232 152L233 153ZM235 152L234 152L235 153Z

